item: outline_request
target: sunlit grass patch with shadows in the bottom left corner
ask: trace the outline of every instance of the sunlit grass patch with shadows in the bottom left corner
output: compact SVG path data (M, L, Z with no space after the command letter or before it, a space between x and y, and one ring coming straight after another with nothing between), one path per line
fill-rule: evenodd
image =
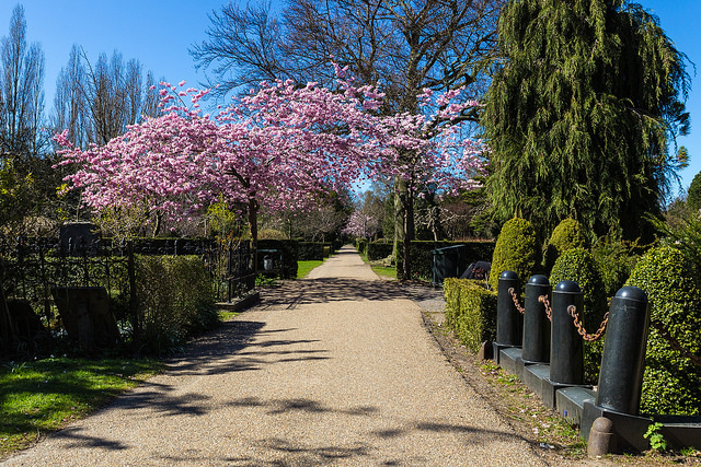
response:
M159 361L126 357L0 364L0 457L93 412L161 369Z

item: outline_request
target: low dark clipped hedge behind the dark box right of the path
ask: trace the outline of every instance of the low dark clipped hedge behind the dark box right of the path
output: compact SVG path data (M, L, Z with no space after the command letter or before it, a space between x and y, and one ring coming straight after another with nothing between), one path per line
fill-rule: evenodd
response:
M466 265L474 261L489 261L494 253L493 241L471 241L471 242L412 242L409 255L412 261L413 279L432 280L432 265L434 261L432 249L445 248L447 246L464 245ZM398 242L397 250L400 252L397 258L397 272L401 273L403 269L403 257L401 255L403 248L402 242Z

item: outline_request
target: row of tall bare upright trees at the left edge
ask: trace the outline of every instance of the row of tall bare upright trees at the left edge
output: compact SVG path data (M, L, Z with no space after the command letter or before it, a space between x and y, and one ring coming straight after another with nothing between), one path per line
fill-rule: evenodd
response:
M79 196L56 197L66 172L53 168L54 133L68 129L83 148L104 144L142 115L157 114L159 96L149 91L157 82L136 59L125 62L115 51L93 65L73 46L47 114L44 51L27 39L22 5L12 12L0 54L0 221L5 232L37 233L73 214L79 203Z

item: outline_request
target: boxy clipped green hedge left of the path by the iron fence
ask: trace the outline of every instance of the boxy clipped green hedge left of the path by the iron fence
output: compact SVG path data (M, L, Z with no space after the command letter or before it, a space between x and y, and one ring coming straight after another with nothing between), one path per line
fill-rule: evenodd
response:
M137 256L140 339L165 353L219 323L212 282L196 256Z

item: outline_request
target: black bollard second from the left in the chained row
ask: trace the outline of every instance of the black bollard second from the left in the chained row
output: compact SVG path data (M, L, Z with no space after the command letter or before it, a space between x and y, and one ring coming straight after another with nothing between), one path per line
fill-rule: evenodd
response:
M550 361L550 322L545 306L538 301L550 294L550 282L545 276L533 276L526 284L524 299L524 353L525 363L548 363Z

